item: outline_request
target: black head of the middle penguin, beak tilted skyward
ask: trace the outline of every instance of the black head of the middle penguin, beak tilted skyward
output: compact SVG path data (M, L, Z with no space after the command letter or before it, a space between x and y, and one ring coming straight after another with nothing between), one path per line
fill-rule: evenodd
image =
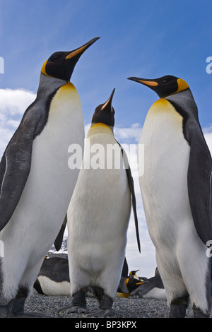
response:
M114 95L114 90L105 104L101 104L96 107L91 120L92 124L103 123L107 126L114 126L114 108L112 107L112 97Z

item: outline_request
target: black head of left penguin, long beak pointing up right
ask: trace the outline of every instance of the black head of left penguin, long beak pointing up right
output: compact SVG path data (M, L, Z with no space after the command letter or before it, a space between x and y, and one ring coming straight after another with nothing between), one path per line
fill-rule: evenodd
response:
M42 65L41 72L46 76L60 78L61 80L70 81L74 66L83 52L88 49L99 37L93 38L85 45L73 49L71 52L55 52Z

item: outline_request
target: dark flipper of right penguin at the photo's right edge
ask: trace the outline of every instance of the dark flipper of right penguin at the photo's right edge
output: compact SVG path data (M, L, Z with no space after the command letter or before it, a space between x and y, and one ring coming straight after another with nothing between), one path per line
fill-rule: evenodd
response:
M196 121L187 121L190 156L187 174L189 203L196 232L206 244L212 239L211 153Z

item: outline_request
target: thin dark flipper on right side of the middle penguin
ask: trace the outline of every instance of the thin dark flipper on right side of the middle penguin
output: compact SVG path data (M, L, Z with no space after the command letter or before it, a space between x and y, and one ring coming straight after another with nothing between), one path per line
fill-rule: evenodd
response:
M119 142L117 142L119 144ZM137 238L137 244L139 247L139 252L141 252L141 244L140 244L140 238L139 238L139 221L138 221L138 217L137 217L137 211L136 211L136 195L135 195L135 191L134 191L134 179L132 177L131 174L131 169L129 167L129 162L128 162L128 158L126 156L126 153L124 151L124 149L122 148L121 144L119 144L121 150L122 150L122 155L123 155L123 159L124 159L124 167L126 169L126 176L128 179L128 183L129 183L129 189L131 192L131 203L132 203L132 207L133 207L133 211L134 211L134 220L135 220L135 227L136 227L136 238Z

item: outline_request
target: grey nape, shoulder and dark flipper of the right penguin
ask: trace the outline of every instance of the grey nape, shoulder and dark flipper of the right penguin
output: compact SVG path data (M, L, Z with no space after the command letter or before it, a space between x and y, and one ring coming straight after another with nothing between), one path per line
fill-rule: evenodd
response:
M192 92L188 89L166 99L183 117L183 134L190 146L187 184L196 232L204 244L212 239L211 153L206 144Z

